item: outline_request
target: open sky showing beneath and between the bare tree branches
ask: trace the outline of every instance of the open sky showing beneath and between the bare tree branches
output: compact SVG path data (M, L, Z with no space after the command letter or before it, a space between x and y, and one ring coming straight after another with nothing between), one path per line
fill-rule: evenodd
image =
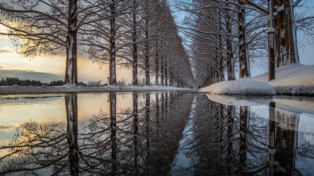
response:
M183 16L184 14L181 14L177 19L182 19ZM5 28L0 25L0 31L4 30ZM308 46L299 48L299 57L301 64L314 65L314 47ZM251 67L252 77L268 71L267 60L268 58L265 58L266 64L261 67ZM78 82L82 81L86 83L89 80L100 79L102 83L107 83L109 67L100 69L97 64L93 64L92 61L88 59L88 56L78 57L77 63ZM34 79L43 83L49 83L53 80L64 80L64 73L65 55L25 58L15 52L11 40L7 39L5 36L0 36L0 79L18 77L19 79ZM117 70L116 76L117 81L125 77L128 79L128 82L132 82L132 69Z

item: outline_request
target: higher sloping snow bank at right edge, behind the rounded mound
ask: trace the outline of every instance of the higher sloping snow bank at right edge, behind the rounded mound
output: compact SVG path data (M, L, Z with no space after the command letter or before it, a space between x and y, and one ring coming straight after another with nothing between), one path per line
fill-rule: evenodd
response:
M276 79L268 81L268 72L242 80L262 81L280 95L314 96L314 65L288 64L276 69Z

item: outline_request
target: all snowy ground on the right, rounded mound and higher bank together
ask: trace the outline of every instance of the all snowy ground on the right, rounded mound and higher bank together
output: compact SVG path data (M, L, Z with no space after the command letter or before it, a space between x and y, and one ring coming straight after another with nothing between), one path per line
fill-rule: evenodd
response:
M236 81L224 81L201 89L217 94L270 95L271 85L277 95L314 96L314 65L288 64L276 69L276 79L268 81L268 72ZM243 82L246 81L246 82ZM253 82L258 81L258 82Z

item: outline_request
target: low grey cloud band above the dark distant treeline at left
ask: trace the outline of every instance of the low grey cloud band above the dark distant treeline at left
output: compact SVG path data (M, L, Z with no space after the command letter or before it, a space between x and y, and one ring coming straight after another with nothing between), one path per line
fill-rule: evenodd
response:
M55 80L63 80L63 74L55 74L48 72L36 72L35 70L30 69L10 69L10 68L0 68L0 79L2 77L5 79L7 77L18 77L19 79L30 79L30 80L39 80L42 83L50 83Z

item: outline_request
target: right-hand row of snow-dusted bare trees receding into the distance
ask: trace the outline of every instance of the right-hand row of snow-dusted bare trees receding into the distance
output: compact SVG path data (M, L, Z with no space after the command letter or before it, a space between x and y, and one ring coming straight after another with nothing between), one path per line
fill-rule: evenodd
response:
M258 64L268 53L275 53L276 67L299 62L297 29L303 37L300 44L312 43L314 34L314 17L306 15L306 8L299 13L295 10L304 5L301 2L179 1L177 8L187 13L181 30L187 37L197 85L224 81L225 70L226 79L235 80L235 65L238 65L240 78L250 77L250 62ZM267 33L274 34L274 39L270 37L267 41Z

